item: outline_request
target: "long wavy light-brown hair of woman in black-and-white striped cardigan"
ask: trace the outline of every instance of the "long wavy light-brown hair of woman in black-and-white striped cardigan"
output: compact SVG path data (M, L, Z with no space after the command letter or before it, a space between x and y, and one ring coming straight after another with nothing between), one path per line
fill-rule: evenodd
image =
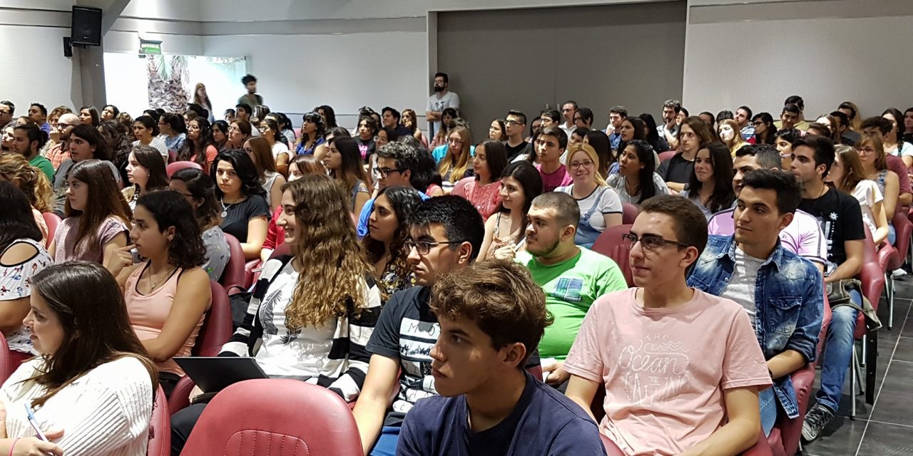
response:
M323 326L349 306L362 308L364 280L373 276L349 212L349 198L328 176L307 174L286 183L295 202L298 238L291 245L301 271L286 308L286 326L298 330Z

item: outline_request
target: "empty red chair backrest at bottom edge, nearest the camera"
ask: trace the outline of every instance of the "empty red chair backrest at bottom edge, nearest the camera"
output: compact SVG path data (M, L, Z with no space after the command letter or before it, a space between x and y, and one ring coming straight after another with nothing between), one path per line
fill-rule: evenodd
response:
M182 454L362 456L362 443L352 411L329 389L261 378L220 391L196 421Z

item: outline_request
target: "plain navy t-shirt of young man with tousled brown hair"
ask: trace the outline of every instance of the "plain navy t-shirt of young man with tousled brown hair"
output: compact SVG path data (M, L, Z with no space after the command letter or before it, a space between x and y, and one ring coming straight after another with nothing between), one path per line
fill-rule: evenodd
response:
M577 404L526 374L507 418L481 432L469 429L466 396L419 399L409 410L397 455L604 455L599 428Z

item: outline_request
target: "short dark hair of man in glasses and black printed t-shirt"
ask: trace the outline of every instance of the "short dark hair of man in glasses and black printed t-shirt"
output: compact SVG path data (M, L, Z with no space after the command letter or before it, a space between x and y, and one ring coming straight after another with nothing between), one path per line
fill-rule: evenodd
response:
M383 147L392 144L395 143L391 142ZM485 237L485 223L482 223L482 216L476 206L466 198L456 195L437 196L425 200L409 216L409 224L426 227L431 223L440 223L444 226L447 241L467 242L472 245L469 259L476 259L482 247L482 238ZM458 247L459 244L450 244L452 250Z

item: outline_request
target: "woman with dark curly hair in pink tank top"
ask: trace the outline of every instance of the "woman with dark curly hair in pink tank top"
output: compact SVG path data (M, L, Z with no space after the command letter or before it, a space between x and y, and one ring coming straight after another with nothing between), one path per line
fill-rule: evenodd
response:
M184 375L174 357L188 357L203 317L212 304L205 246L194 209L181 193L143 194L133 212L132 244L145 260L133 264L130 252L110 271L121 285L136 336L159 369L159 384L170 396Z

